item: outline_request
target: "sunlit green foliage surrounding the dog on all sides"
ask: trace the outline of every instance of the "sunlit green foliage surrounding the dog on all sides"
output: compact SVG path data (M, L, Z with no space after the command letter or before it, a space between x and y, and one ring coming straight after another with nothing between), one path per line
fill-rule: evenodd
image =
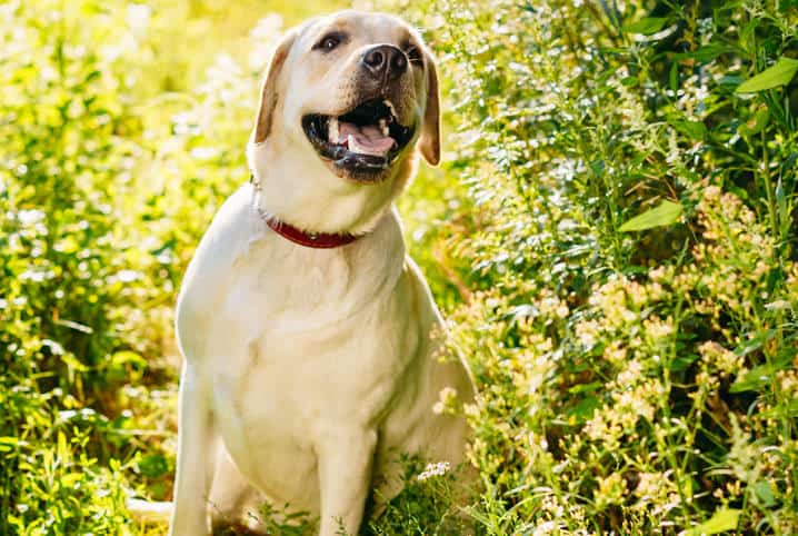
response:
M0 2L0 534L163 533L176 289L280 31L345 4ZM480 483L410 464L365 532L798 532L796 2L376 7L446 81L400 208Z

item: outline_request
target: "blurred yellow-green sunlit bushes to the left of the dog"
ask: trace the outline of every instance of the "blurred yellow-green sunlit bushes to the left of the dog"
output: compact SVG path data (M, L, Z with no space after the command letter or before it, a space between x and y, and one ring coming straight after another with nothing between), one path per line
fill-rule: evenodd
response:
M126 494L171 496L174 292L247 180L276 37L246 71L181 66L158 54L187 4L0 7L0 534L122 534Z

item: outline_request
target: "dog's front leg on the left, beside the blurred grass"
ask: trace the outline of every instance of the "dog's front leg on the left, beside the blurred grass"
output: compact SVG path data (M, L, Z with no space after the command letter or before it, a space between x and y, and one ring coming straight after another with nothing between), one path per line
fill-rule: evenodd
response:
M196 366L183 365L178 400L178 461L170 536L203 536L213 476L213 433L209 396Z

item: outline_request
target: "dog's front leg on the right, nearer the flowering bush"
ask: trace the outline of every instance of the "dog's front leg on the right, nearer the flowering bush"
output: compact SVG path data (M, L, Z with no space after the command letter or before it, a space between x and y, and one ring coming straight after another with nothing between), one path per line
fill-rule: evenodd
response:
M371 485L376 445L377 433L365 429L335 430L319 445L319 536L358 534Z

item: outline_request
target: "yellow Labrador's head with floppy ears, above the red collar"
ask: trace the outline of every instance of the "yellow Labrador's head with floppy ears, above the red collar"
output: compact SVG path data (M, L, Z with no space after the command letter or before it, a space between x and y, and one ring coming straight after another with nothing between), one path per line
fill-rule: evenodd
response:
M268 212L307 230L362 232L405 187L418 152L440 157L438 81L411 27L345 11L283 38L249 146Z

